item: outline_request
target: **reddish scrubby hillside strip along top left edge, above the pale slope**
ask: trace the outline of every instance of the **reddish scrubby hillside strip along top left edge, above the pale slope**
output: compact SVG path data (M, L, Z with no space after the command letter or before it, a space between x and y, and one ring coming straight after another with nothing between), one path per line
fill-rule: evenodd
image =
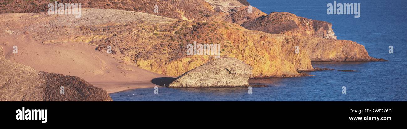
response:
M1 2L3 1L3 2ZM0 13L40 13L55 0L1 0ZM86 9L137 11L174 19L206 21L219 13L204 0L57 0L58 3L81 3ZM53 3L53 2L52 2ZM237 2L239 3L239 2ZM155 5L158 13L154 12Z

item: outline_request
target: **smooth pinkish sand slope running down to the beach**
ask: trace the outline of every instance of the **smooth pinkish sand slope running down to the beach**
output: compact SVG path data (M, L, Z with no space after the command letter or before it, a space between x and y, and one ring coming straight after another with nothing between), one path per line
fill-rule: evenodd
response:
M151 82L167 77L132 65L122 65L114 58L95 51L84 43L40 44L30 36L2 37L6 58L36 69L78 76L108 93L156 86ZM18 54L13 54L18 46Z

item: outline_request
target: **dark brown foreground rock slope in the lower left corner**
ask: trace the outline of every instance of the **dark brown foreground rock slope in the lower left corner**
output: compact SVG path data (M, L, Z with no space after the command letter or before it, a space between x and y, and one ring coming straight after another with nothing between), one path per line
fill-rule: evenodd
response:
M64 87L61 94L60 87ZM0 47L0 101L112 101L79 77L36 71L4 58Z

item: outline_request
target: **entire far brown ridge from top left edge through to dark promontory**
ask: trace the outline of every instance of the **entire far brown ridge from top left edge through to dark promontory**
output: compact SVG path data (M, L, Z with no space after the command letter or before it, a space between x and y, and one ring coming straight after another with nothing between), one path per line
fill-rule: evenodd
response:
M44 12L48 11L49 3L49 0L5 0L0 4L0 13ZM267 15L255 7L252 13L248 13L249 4L246 0L60 0L58 3L81 3L83 8L137 11L183 20L224 19L242 24L249 30L271 34L336 39L330 23L298 17L291 13ZM158 7L158 13L154 12L155 5Z

